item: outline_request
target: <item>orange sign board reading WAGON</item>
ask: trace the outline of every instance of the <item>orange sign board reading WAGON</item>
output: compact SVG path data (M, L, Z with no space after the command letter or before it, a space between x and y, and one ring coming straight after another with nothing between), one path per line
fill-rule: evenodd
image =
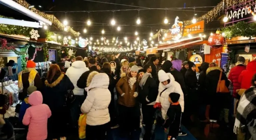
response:
M184 27L183 37L204 32L204 20Z

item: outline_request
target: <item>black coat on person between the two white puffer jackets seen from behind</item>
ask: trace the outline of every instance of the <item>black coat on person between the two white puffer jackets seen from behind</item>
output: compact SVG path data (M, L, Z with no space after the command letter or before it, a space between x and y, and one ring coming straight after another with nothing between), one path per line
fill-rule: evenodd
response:
M82 89L86 88L87 78L88 78L89 74L90 74L91 72L93 72L93 71L97 71L97 72L99 72L99 73L104 73L103 71L98 70L98 69L97 69L97 66L91 66L91 67L89 68L89 71L84 72L84 73L80 76L80 78L78 79L77 84L76 84L77 87L82 88ZM85 98L86 98L86 96L87 96L87 91L85 91L85 90L84 90L84 96L85 96Z

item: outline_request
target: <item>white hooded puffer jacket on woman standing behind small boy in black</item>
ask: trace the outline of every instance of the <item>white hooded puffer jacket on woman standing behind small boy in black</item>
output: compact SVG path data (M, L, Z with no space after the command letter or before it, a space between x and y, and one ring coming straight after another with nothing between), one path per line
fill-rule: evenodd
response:
M159 73L158 73L159 74ZM170 83L167 85L163 85L161 82L159 83L159 87L158 87L158 96L156 99L157 103L161 103L162 109L162 118L165 119L166 117L166 113L168 108L170 107L170 102L168 100L169 98L169 94L172 92L175 93L179 93L180 94L180 99L179 99L179 103L181 106L181 111L184 111L184 95L182 92L182 89L180 87L180 84L178 82L175 81L173 75L171 73L164 73L166 76L168 75L169 79L170 79ZM167 88L160 97L160 93Z

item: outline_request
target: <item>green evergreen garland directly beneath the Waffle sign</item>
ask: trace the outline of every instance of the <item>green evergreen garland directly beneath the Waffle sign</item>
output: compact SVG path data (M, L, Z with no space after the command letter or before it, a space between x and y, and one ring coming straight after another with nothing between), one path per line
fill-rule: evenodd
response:
M221 31L225 33L225 38L233 38L237 36L255 37L256 23L246 23L244 21L240 21L233 26L222 28Z

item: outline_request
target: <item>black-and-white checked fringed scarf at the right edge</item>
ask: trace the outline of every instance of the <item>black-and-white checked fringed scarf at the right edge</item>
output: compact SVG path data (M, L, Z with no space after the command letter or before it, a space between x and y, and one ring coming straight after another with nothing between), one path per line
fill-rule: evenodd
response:
M236 113L235 128L239 128L242 125L247 125L247 116L256 109L256 106L252 101L256 98L256 88L251 87L247 89L242 95Z

